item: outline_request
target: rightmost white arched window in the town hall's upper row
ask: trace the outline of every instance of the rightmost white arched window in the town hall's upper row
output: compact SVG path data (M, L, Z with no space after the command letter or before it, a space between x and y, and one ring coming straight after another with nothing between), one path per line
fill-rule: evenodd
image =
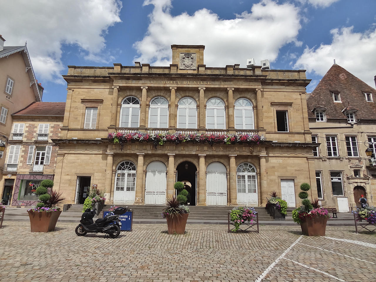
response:
M250 100L240 98L235 101L234 117L236 129L255 129L253 105Z

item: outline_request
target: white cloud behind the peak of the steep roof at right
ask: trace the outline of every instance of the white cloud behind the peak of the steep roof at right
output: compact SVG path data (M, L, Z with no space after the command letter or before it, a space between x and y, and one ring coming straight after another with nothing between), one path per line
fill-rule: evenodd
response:
M294 68L304 68L320 76L329 70L333 59L341 67L375 87L373 76L376 65L376 28L364 33L353 32L353 27L332 29L331 44L304 50Z

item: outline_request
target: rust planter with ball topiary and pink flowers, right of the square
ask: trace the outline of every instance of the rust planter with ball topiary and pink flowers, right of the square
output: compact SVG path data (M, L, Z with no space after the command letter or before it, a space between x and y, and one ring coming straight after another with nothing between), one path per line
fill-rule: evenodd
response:
M302 199L302 206L293 210L293 220L300 224L303 235L325 236L326 221L330 217L327 209L321 208L318 199L314 202L308 200L308 191L311 188L308 183L302 183L299 198Z

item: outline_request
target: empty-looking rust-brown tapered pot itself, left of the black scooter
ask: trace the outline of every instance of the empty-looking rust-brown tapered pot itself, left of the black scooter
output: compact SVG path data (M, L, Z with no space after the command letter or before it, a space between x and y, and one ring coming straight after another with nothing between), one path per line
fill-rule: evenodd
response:
M33 212L28 211L30 218L31 232L50 232L55 230L61 211Z

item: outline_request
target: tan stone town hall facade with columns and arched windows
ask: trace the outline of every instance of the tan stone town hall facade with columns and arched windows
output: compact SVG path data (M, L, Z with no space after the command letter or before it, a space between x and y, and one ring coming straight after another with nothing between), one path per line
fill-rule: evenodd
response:
M96 184L105 190L107 203L161 204L175 194L176 180L186 182L191 205L262 206L276 190L296 206L303 182L312 186L310 198L317 197L305 71L238 64L210 68L204 65L202 45L171 49L169 67L139 62L68 66L61 137L53 140L59 142L55 187L66 202L82 202L84 189ZM194 54L196 66L191 60L180 68L181 53ZM183 105L185 98L190 105ZM109 142L113 132L241 132L264 135L266 141L213 146L129 142L122 148ZM242 173L241 164L249 170L243 165L247 171ZM241 179L247 182L244 190Z

